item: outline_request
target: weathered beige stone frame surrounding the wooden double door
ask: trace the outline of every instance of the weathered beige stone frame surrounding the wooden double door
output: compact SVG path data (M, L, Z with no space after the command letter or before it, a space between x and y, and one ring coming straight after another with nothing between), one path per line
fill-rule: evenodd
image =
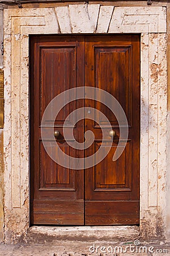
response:
M99 34L133 34L134 32L141 34L140 232L143 238L158 237L159 234L162 237L165 236L166 8L92 4L88 6L87 14L85 7L84 5L69 5L56 8L4 10L5 123L3 143L6 242L18 241L21 236L27 239L29 230L28 35L30 34L94 34L96 32ZM18 225L14 226L14 222ZM126 232L128 234L128 228ZM124 236L126 236L125 230Z

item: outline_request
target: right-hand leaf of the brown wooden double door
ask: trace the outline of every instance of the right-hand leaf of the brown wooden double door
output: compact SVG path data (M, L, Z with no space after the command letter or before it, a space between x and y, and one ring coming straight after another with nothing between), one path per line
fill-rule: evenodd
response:
M86 106L107 116L116 136L105 159L85 171L85 224L139 224L139 37L87 36L85 49L85 84L112 94L124 109L129 125L125 150L113 162L120 137L117 119L105 105L86 100ZM86 156L99 150L102 141L99 125L102 120L97 124L86 119L85 131L95 134Z

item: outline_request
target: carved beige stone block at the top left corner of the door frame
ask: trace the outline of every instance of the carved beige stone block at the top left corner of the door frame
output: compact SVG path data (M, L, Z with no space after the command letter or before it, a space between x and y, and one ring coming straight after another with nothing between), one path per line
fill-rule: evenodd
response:
M8 14L10 11L10 15ZM58 34L54 8L11 9L4 11L4 35Z

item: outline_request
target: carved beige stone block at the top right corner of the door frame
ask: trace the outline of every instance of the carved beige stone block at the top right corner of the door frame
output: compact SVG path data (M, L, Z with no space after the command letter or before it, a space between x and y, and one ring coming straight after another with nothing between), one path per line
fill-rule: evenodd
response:
M109 33L166 32L165 7L115 7Z

